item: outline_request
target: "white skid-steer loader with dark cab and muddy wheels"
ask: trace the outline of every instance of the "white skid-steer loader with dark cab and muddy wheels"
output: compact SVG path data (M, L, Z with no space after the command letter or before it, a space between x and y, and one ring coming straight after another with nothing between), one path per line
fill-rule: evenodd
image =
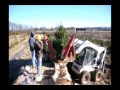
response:
M106 49L78 38L74 39L73 46L76 58L71 69L79 77L80 83L86 85L91 79L100 81L104 72Z

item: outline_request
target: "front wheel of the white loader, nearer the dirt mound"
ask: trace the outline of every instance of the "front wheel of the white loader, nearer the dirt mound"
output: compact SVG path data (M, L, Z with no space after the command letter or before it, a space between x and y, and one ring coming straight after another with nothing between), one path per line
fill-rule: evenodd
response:
M80 80L80 83L82 85L87 85L89 82L90 82L90 79L91 79L91 75L89 72L87 71L83 71L80 75L79 75L79 80Z

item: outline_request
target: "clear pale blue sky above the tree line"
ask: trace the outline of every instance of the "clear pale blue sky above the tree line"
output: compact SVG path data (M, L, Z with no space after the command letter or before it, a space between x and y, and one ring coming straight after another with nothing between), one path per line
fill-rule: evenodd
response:
M111 5L9 5L9 21L33 27L111 27Z

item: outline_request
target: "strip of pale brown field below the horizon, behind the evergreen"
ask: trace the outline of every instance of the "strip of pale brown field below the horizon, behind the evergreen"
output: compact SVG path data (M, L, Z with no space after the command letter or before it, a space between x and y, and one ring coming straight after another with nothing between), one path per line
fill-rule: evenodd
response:
M54 35L55 32L53 31L37 31L36 33L45 32L48 36ZM66 35L71 36L75 34L76 37L90 37L90 38L99 38L99 39L111 39L111 31L67 31Z

